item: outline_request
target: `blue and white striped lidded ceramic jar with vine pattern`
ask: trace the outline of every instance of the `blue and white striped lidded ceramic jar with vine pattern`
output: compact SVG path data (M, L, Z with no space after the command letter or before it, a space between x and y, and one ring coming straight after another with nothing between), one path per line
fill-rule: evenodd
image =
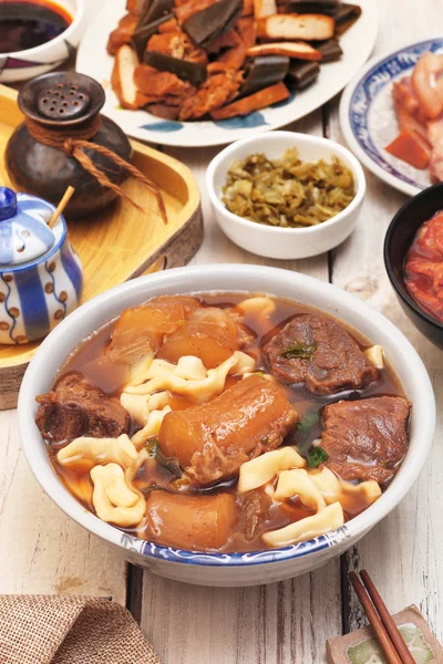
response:
M0 187L0 343L43 339L80 303L83 270L62 215L50 203Z

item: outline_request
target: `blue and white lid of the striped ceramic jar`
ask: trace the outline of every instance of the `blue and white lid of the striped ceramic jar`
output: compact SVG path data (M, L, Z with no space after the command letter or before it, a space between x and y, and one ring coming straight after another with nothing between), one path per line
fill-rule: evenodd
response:
M0 187L0 266L14 267L43 257L54 245L48 204Z

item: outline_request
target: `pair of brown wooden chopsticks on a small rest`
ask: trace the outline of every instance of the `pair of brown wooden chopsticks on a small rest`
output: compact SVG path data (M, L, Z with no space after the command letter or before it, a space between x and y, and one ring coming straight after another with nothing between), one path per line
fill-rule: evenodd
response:
M375 632L375 636L383 650L388 664L415 664L415 660L409 652L408 646L404 643L396 624L392 620L392 615L388 611L387 605L381 599L379 591L373 584L371 577L365 570L362 570L360 572L360 578L363 583L356 572L349 572L349 580L351 581L357 596L364 609L364 613Z

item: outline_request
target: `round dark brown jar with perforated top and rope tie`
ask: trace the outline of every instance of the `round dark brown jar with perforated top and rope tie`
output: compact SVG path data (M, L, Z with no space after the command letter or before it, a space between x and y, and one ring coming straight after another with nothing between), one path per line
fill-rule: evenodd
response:
M103 87L75 72L43 74L27 83L18 97L25 120L6 151L7 169L16 188L58 205L72 185L75 194L64 210L68 219L94 214L115 200L119 193L100 184L76 158L69 156L69 151L48 144L61 142L63 146L64 138L80 137L131 162L132 147L126 135L100 114L104 102ZM109 156L87 147L81 149L114 185L126 179L124 168Z

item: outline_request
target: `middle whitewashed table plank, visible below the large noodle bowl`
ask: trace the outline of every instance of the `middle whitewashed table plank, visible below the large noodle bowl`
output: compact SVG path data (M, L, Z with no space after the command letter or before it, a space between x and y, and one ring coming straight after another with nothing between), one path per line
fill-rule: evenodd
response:
M321 135L321 113L292 128ZM185 160L199 180L205 240L194 262L272 264L328 280L327 256L270 261L239 249L224 236L204 184L206 166L218 148L166 152ZM259 588L207 589L148 572L143 585L141 624L167 664L187 664L196 656L210 664L317 664L324 661L326 637L341 634L339 561L302 578Z

